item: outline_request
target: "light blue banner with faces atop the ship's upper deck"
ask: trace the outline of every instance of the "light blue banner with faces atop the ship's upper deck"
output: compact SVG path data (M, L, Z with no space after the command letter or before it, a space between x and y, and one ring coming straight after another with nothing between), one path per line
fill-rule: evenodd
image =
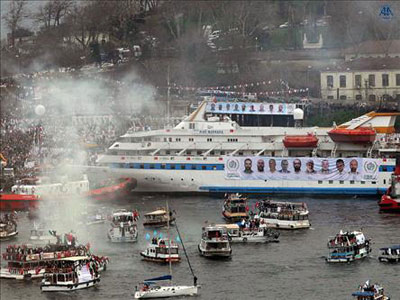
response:
M295 104L251 103L251 102L209 102L206 112L221 114L292 115Z

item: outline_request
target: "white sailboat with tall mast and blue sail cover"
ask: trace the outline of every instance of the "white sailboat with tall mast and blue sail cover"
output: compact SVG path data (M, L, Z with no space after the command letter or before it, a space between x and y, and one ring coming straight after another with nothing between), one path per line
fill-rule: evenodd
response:
M168 211L168 203L166 205ZM169 215L167 215L167 227L169 236ZM180 235L178 226L176 225L176 230L178 232L180 241L182 243L182 248L184 250L190 271L193 275L193 285L175 285L172 282L172 261L169 260L169 275L164 275L160 277L155 277L147 279L141 283L139 287L136 287L134 298L135 299L147 299L147 298L168 298L168 297L181 297L181 296L195 296L198 293L197 277L194 275L193 268L189 261L189 256L187 255L186 248L184 246L182 237ZM169 239L168 239L169 240ZM170 240L169 240L170 241ZM171 251L171 247L169 247ZM160 282L169 281L169 284L160 284Z

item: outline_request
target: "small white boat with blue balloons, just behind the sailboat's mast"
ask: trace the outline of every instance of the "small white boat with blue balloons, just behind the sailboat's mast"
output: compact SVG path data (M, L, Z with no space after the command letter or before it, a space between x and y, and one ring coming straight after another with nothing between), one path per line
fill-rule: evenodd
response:
M143 260L168 263L179 262L179 247L169 239L154 237L145 251L140 252Z

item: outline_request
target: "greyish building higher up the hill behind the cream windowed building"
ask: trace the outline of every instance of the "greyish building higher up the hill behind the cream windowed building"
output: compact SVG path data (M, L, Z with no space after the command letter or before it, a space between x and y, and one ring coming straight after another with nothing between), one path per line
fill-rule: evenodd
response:
M365 41L344 51L345 61L359 58L400 58L400 40Z

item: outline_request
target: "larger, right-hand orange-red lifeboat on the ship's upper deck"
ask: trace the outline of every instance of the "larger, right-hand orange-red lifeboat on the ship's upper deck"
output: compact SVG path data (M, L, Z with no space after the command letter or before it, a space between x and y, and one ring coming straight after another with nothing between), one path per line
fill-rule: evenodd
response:
M336 143L369 144L375 141L376 131L366 127L356 129L335 128L329 131L328 135Z

